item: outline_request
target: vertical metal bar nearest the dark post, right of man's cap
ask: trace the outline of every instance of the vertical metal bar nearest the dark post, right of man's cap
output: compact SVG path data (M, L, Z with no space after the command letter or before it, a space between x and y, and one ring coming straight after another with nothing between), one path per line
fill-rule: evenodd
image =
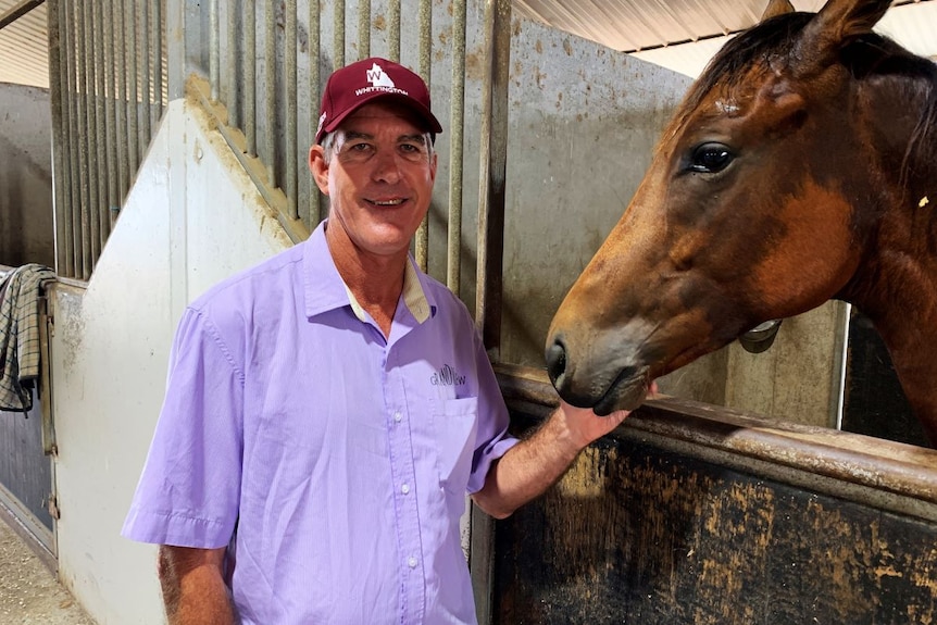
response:
M465 116L465 0L452 2L452 95L449 101L449 237L446 285L459 295L462 280L462 166Z

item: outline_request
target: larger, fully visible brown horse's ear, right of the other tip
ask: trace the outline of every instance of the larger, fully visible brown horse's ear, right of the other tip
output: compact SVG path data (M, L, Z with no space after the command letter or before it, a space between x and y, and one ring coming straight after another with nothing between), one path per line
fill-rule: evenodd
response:
M872 32L891 5L891 0L828 0L807 25L796 55L804 70L822 70L839 51Z

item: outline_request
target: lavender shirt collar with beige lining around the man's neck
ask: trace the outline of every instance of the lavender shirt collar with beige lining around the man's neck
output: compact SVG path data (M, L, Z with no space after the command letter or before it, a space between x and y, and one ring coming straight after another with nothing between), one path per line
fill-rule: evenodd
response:
M350 305L354 316L363 322L367 318L364 309L341 279L328 251L328 243L325 240L327 221L323 220L303 243L305 246L302 257L305 314L312 317L328 310ZM413 318L421 324L436 310L432 292L424 284L425 279L426 277L416 270L413 259L408 257L403 272L403 303Z

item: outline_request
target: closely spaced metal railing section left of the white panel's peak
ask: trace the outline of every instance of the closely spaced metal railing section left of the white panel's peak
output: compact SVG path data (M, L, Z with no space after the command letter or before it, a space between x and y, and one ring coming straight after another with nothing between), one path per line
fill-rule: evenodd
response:
M165 0L49 0L57 272L89 279L166 103Z

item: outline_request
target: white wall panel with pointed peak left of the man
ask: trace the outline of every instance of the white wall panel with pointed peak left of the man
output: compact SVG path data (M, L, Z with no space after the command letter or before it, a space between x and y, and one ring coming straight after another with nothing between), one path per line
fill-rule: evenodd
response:
M87 288L53 299L59 571L100 625L163 623L155 549L120 537L185 304L291 243L198 108L174 101Z

